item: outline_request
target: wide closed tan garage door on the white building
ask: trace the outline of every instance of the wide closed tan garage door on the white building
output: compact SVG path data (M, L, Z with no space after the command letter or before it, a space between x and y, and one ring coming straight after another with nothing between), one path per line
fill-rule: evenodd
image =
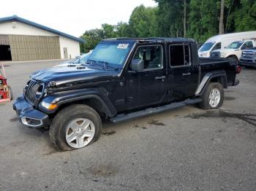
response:
M59 36L9 35L12 61L61 58Z

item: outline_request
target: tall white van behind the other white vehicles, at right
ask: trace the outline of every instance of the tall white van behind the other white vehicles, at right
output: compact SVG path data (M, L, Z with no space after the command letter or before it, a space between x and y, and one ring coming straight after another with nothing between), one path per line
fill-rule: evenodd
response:
M232 34L220 34L217 36L212 36L202 47L198 50L198 56L208 58L210 57L210 52L213 50L224 49L232 42L244 41L245 39L255 39L256 31L248 31L241 33Z

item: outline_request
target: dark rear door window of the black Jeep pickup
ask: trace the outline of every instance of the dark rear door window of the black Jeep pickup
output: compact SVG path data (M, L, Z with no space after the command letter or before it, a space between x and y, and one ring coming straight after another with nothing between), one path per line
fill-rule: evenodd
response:
M191 55L189 45L170 45L170 66L189 66Z

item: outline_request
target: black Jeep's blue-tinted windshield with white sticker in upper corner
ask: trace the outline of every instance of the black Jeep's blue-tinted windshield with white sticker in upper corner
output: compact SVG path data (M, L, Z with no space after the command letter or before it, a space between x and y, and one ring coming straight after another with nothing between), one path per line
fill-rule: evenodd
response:
M131 48L130 42L101 42L91 52L88 61L123 66Z

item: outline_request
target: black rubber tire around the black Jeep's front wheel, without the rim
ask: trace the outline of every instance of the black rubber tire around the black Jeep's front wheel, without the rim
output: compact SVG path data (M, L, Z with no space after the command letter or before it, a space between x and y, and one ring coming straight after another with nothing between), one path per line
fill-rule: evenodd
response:
M55 147L59 151L76 149L70 147L69 144L67 144L66 130L69 122L80 117L89 119L91 120L91 122L94 123L95 133L93 139L91 139L89 144L92 144L94 141L97 141L97 139L99 139L102 128L102 122L99 114L89 106L83 104L75 104L62 109L54 117L49 130L50 141L53 144L53 147ZM88 146L89 144L87 144L86 146Z

